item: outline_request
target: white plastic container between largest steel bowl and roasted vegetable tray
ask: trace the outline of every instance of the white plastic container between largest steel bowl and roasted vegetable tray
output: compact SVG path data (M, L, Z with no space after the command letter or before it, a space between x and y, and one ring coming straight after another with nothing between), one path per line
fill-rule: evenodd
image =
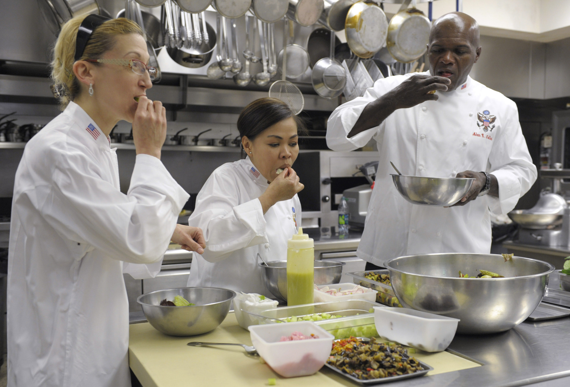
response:
M426 352L445 351L458 323L458 319L415 309L374 307L378 335Z

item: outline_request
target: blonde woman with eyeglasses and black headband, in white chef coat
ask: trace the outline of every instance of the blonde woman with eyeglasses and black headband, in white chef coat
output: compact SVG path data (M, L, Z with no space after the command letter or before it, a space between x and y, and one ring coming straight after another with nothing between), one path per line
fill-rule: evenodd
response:
M131 386L123 272L156 275L171 239L203 252L201 230L176 225L189 195L160 161L165 108L146 97L148 60L128 19L77 17L59 34L51 77L64 111L26 144L14 184L9 386ZM119 120L137 154L127 194L108 137Z

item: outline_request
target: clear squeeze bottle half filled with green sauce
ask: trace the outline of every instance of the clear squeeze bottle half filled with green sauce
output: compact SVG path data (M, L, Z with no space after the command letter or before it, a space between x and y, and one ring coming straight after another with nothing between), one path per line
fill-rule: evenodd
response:
M308 234L299 234L287 241L287 305L312 304L315 282L315 249Z

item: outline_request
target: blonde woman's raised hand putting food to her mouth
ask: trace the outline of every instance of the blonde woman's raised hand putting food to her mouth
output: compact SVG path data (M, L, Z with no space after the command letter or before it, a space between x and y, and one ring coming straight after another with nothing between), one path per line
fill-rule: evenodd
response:
M140 96L133 120L133 140L137 154L145 153L160 158L165 138L166 108L160 101Z

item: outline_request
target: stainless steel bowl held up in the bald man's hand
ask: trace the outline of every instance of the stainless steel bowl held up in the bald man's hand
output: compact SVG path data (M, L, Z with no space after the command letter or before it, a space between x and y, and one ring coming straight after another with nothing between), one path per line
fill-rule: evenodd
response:
M391 174L398 192L410 203L424 206L452 206L475 179L462 177L423 177Z

